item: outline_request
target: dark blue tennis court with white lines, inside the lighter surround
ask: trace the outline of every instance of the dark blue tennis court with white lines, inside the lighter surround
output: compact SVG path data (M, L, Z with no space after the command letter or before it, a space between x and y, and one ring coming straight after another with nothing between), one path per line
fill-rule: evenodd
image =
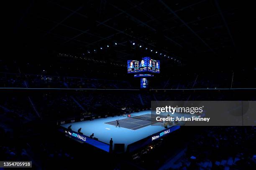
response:
M130 115L130 116L131 117L128 117L126 119L118 120L121 128L137 130L137 129L144 128L149 125L160 123L160 122L152 121L151 114L145 114L145 115L140 115L140 116L135 116L135 117L132 117L132 115ZM109 124L109 125L113 125L113 126L117 125L116 120L111 121L111 122L105 122L105 123ZM119 127L117 127L117 128L119 128Z

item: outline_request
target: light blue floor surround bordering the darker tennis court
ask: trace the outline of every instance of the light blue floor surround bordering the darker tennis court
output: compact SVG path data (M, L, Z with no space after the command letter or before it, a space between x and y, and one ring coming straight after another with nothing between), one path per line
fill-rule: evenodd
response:
M138 112L138 113L132 113L133 115L145 115L145 114L151 114L150 110ZM165 128L163 126L154 126L154 125L148 125L146 127L137 129L137 130L131 130L127 128L115 128L113 125L105 124L105 122L110 122L114 120L122 120L126 119L125 116L115 116L115 117L107 117L107 118L99 118L95 120L87 120L82 122L74 122L74 123L68 123L61 125L65 128L67 128L69 125L72 125L72 130L76 131L79 128L82 128L81 132L86 135L90 136L92 133L94 133L94 137L98 138L99 141L109 143L110 138L113 138L113 147L115 143L124 143L125 149L127 148L127 145L134 143L138 140L141 140L143 138L146 138L154 133L158 133L161 130L164 130ZM120 122L121 124L122 122Z

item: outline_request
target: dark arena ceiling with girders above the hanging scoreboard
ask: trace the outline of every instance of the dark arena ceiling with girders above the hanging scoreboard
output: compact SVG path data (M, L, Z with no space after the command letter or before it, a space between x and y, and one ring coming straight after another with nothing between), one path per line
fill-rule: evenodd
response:
M17 44L69 53L92 53L102 47L121 62L151 53L162 60L175 58L174 64L230 61L243 53L243 38L249 32L244 16L250 5L236 1L31 0L18 3L13 22ZM250 20L250 17L246 18Z

